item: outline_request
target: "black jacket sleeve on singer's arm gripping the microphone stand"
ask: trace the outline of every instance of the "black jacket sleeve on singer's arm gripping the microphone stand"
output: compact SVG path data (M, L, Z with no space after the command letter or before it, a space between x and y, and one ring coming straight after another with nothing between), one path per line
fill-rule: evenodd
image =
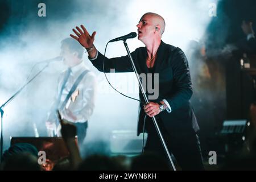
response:
M171 110L174 111L190 100L193 91L188 60L184 52L180 48L177 48L171 59L174 74L173 88L175 91L166 100L170 104Z

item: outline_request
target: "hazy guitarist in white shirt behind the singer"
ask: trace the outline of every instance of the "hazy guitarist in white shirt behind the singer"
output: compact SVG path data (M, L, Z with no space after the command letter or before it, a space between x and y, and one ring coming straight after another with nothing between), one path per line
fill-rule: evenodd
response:
M81 146L86 136L88 120L93 113L96 76L82 60L84 48L72 39L61 41L60 56L68 69L61 73L55 101L46 121L49 137L60 136L60 125L56 110L59 109L63 119L77 127L77 137Z

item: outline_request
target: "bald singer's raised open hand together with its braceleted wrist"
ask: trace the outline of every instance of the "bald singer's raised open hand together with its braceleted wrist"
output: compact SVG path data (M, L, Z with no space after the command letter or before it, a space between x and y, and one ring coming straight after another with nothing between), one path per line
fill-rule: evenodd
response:
M92 36L90 36L88 31L82 24L81 24L81 28L82 30L77 26L76 26L76 30L75 28L73 28L72 30L73 32L75 32L77 36L72 34L70 34L70 36L73 39L76 39L83 47L87 49L90 57L95 57L97 53L97 49L94 47L93 42L94 42L94 37L96 35L96 31L92 33Z

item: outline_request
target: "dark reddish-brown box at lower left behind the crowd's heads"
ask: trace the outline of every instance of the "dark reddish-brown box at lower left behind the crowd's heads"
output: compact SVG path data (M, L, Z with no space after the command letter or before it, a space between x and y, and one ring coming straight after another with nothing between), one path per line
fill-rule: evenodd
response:
M38 151L46 152L46 158L54 163L69 156L68 148L61 137L11 137L11 145L15 143L34 145Z

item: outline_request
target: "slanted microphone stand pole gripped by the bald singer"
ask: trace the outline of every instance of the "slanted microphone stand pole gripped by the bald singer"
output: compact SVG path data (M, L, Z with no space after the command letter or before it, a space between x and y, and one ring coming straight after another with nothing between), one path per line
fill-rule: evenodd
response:
M130 51L129 51L128 45L127 45L127 43L126 43L126 40L123 40L123 44L125 44L125 48L126 48L126 51L127 51L127 53L128 53L128 57L130 58L130 61L131 61L131 66L133 67L133 71L134 71L134 73L135 73L135 75L136 75L136 77L137 77L137 80L138 80L138 82L139 82L139 88L141 88L141 91L142 91L144 100L146 101L146 104L148 104L149 102L148 102L148 99L147 99L147 96L146 96L146 92L144 92L144 88L143 88L143 86L142 86L142 82L141 82L141 80L139 79L139 74L138 74L137 69L136 69L136 67L135 67L135 64L134 64L134 61L133 61L133 57L131 57L131 53L130 53ZM167 146L166 146L166 142L164 142L163 135L162 135L162 133L161 133L161 131L160 131L160 129L159 129L158 123L156 122L156 119L155 119L154 116L152 117L152 120L153 120L153 122L154 122L156 131L157 131L157 133L158 133L158 135L159 135L159 138L160 138L160 140L161 140L161 142L162 142L162 144L163 144L164 151L166 151L166 154L168 155L168 159L170 160L171 166L172 166L172 168L174 169L174 171L176 171L176 168L175 168L175 166L174 166L174 162L172 161L171 155L170 155L170 153L169 153L169 151L168 151L168 148L167 148Z

